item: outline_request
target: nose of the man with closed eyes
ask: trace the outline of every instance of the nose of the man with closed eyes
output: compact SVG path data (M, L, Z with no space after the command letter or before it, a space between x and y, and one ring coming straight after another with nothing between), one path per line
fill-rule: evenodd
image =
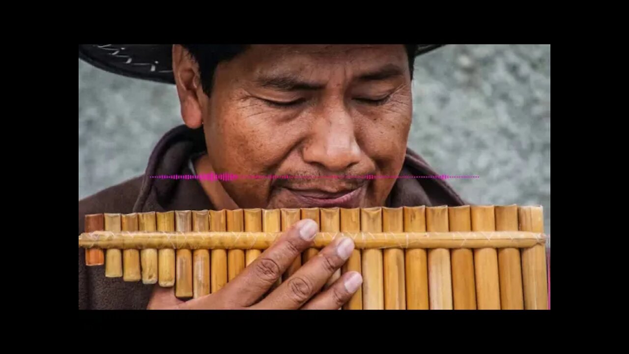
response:
M331 173L341 173L360 162L352 117L344 108L322 111L314 118L311 134L303 149L306 163Z

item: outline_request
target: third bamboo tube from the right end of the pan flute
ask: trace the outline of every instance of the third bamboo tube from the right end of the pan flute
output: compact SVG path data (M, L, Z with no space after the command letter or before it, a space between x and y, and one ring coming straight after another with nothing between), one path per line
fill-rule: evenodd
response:
M472 231L495 231L493 205L472 205ZM496 248L474 249L476 301L479 310L500 309L498 251Z

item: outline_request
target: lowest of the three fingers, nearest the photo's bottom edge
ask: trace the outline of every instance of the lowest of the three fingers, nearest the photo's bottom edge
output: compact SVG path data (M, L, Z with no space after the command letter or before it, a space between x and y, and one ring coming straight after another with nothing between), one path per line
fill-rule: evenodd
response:
M328 290L321 292L301 307L303 310L338 310L362 285L362 276L357 271L350 271L338 278Z

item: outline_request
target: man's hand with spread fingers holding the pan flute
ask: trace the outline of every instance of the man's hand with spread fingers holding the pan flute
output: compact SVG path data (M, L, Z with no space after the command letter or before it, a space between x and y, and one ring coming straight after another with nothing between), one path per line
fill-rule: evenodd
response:
M338 309L359 289L360 273L345 273L331 287L316 293L352 254L354 244L348 237L335 239L260 300L294 259L301 257L315 234L315 222L301 220L218 292L184 302L175 297L174 288L158 286L148 309Z

